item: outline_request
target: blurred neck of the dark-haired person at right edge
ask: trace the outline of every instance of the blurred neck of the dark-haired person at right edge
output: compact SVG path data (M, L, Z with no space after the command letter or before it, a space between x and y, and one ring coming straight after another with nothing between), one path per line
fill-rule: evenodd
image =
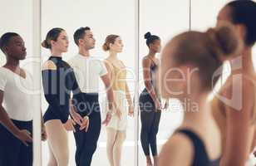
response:
M244 49L242 56L240 56L241 59L239 59L238 63L242 63L241 71L244 74L254 75L254 64L253 64L253 57L252 57L252 48L246 48ZM242 61L242 62L241 62ZM235 71L238 71L235 69L235 67L238 65L237 63L230 63L231 64L231 71L234 73Z

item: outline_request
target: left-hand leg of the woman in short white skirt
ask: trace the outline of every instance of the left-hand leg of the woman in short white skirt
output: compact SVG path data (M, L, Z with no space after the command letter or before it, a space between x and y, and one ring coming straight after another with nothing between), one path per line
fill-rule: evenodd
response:
M111 166L114 166L113 148L116 141L116 133L116 129L106 129L106 155Z

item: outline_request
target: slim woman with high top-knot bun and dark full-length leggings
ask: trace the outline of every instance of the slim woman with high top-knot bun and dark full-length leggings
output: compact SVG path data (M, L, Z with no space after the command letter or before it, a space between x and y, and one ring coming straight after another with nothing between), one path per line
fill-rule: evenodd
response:
M147 165L152 165L150 149L154 158L154 164L156 165L156 134L160 123L161 105L160 95L157 90L158 88L156 87L159 60L155 57L155 54L160 52L160 37L151 35L150 32L147 32L145 34L145 39L150 52L142 61L145 89L140 94L140 141Z

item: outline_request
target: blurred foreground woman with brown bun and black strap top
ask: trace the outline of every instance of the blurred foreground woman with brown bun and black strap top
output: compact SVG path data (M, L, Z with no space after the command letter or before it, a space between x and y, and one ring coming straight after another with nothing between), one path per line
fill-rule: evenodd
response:
M160 166L219 165L221 138L207 98L218 81L217 69L239 53L236 34L231 25L219 25L207 32L181 33L165 46L161 95L178 98L185 117L163 146Z

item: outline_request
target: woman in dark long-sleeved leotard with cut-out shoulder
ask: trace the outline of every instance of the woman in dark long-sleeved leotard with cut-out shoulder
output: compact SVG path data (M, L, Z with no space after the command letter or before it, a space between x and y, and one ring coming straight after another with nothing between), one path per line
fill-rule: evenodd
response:
M52 52L52 56L42 67L42 85L49 104L43 115L50 149L48 164L67 166L69 157L66 130L75 130L73 125L76 125L74 120L68 119L71 92L76 102L84 100L71 66L62 60L62 52L66 52L68 46L66 32L62 28L53 28L47 33L42 46L51 49ZM83 123L85 120L87 119L84 119ZM81 126L81 129L86 127Z

